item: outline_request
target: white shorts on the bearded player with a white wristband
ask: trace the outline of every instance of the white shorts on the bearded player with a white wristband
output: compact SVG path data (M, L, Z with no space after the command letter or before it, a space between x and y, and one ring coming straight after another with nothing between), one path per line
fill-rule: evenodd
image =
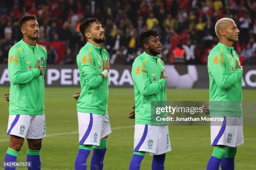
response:
M108 114L77 112L79 145L100 146L100 139L111 133Z

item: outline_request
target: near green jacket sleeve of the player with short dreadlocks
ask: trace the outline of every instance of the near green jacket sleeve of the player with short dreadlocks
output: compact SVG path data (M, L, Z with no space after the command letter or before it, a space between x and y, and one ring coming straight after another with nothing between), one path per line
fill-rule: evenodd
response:
M148 78L147 70L141 71L142 67L145 67L141 60L137 60L133 63L132 67L132 77L134 84L138 87L138 90L142 95L154 95L158 93L161 88L166 85L165 79L157 80L156 82L151 83Z

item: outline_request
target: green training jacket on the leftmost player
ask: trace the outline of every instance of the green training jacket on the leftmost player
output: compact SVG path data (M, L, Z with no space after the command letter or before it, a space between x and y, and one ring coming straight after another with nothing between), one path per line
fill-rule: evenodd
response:
M40 75L40 70L36 68L38 59L39 65L44 65L45 73L47 52L43 46L29 46L20 40L10 48L10 115L44 114L44 75Z

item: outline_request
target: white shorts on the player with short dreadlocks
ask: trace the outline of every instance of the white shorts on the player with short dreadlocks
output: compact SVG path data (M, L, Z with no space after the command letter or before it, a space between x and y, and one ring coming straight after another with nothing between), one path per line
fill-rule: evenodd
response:
M161 155L171 151L168 125L154 126L135 124L134 151Z

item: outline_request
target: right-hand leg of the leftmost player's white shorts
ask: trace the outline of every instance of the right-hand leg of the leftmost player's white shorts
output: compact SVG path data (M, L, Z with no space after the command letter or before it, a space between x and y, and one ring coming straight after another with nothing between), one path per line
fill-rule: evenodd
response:
M42 139L46 136L45 115L32 115L26 138Z

